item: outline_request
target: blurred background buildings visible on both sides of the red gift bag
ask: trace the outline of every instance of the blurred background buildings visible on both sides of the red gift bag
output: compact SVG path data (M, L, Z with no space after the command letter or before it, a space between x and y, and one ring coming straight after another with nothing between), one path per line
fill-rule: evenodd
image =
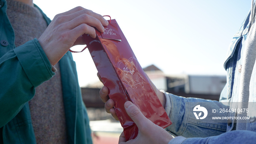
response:
M160 90L178 96L219 100L219 95L226 84L226 76L213 75L166 75L155 65L143 70ZM82 87L83 101L87 107L104 107L99 97L101 82Z

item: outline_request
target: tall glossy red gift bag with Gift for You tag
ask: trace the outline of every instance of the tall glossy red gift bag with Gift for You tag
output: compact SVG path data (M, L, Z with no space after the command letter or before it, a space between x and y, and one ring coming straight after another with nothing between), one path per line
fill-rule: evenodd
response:
M124 109L126 101L162 128L172 124L116 20L109 21L104 33L96 30L96 34L96 38L87 34L83 38L104 86L109 88L126 140L138 135L138 127Z

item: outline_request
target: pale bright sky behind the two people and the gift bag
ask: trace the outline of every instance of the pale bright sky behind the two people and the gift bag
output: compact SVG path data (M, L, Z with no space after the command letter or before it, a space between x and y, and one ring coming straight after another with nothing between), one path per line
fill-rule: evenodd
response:
M225 75L223 62L251 0L34 0L50 19L82 6L116 19L140 65L166 74ZM108 18L106 18L108 19ZM76 46L72 50L82 49ZM97 81L87 50L73 54L79 84Z

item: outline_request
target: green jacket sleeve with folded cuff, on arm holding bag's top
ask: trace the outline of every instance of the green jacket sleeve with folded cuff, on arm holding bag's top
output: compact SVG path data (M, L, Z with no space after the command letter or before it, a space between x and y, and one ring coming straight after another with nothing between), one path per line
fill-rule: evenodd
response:
M53 75L52 66L37 39L0 58L0 127L33 98L35 87Z

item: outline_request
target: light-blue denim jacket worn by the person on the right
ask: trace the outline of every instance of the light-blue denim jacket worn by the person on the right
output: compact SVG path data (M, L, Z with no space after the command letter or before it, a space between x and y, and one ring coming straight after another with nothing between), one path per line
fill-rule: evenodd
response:
M253 8L254 6L252 6L252 10ZM255 10L252 12L255 16ZM255 27L255 18L249 12L229 45L224 63L227 72L227 83L221 92L219 101L183 98L165 93L165 110L173 122L166 130L178 136L171 140L169 144L255 143ZM203 110L201 114L198 114L196 113L196 107L206 108L208 111L206 118L199 118ZM240 108L242 108L242 112ZM216 115L224 118L224 120L212 120L212 117ZM237 117L244 117L245 120Z

